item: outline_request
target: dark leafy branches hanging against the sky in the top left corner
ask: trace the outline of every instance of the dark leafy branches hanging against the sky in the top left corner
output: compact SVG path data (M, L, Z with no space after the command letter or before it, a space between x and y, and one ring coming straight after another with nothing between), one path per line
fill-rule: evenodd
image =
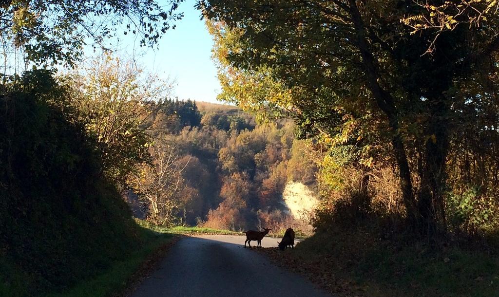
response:
M136 34L141 46L155 46L163 33L174 28L172 21L182 0L168 5L156 0L6 0L0 2L0 36L5 49L22 49L35 65L74 63L83 46L106 48L105 40L123 30Z

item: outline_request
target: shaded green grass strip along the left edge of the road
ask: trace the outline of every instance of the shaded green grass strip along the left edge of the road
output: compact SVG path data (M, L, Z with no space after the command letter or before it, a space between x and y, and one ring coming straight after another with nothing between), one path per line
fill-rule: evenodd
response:
M138 223L139 226L134 227L137 242L127 244L127 249L108 246L106 248L111 251L102 256L89 252L88 257L74 255L75 259L66 259L67 264L61 265L58 270L73 275L61 276L63 282L55 283L43 275L33 275L31 269L19 268L9 259L1 259L0 280L4 281L0 282L0 296L121 295L147 274L177 238L175 234L153 231L147 224ZM113 253L116 255L110 256ZM50 262L50 259L34 265L39 270L49 269L45 262Z

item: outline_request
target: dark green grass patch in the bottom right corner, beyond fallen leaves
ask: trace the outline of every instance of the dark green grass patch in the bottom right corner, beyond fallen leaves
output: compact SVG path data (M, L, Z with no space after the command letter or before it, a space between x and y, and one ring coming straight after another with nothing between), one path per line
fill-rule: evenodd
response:
M394 275L395 273L395 275ZM358 263L356 277L433 296L497 296L499 259L457 247L430 251L408 246L399 251L376 248Z

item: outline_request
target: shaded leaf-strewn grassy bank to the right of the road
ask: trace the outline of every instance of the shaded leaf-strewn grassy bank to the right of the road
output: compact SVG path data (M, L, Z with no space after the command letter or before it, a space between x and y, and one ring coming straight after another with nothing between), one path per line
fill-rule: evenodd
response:
M317 233L264 253L340 296L497 296L497 251L380 240L362 228Z

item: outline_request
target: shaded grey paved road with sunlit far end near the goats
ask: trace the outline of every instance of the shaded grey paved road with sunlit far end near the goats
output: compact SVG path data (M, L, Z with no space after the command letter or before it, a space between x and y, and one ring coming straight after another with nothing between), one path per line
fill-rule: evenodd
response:
M183 238L132 296L329 296L301 276L245 249L244 242L244 236L233 235ZM266 237L261 245L275 247L277 243Z

